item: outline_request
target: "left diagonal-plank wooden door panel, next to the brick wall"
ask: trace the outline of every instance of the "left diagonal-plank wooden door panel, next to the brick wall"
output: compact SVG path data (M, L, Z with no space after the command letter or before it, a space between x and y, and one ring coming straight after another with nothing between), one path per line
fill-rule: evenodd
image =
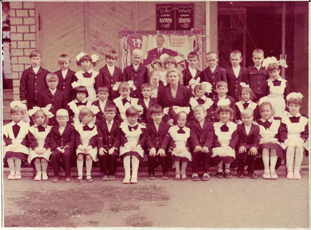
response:
M43 54L43 67L59 70L61 54L71 57L70 69L77 71L76 55L84 51L83 2L35 2L37 49ZM38 36L39 35L39 36Z

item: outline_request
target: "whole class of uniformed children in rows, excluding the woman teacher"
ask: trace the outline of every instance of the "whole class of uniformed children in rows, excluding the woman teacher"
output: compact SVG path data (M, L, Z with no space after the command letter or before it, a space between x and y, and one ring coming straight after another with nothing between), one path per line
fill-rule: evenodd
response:
M247 164L249 177L257 179L254 161L258 153L262 154L264 179L277 179L278 157L285 159L288 179L301 179L300 165L308 150L308 119L299 113L302 95L289 93L279 74L284 62L263 60L263 51L255 49L254 66L243 69L239 65L241 53L233 51L232 66L223 70L217 65L217 54L209 52L208 67L200 72L196 68L199 57L191 52L189 67L182 73L183 85L192 97L188 107L174 108L174 122L164 122L165 111L158 100L165 98L159 98L159 92L168 84L165 71L178 65L174 57L167 57L164 63L156 59L149 73L141 65L142 56L142 50L135 49L132 64L122 73L114 65L118 52L109 51L107 64L96 72L91 67L98 56L81 52L76 57L81 71L75 73L68 68L69 56L60 55L61 69L49 73L40 67L40 51L32 51L31 67L21 77L21 101L11 103L13 121L3 129L8 179L21 179L21 160L28 160L37 171L34 179L46 180L50 161L53 182L57 182L62 158L65 181L71 181L73 152L77 156L77 183L83 180L84 161L87 182L93 181L93 161L99 161L103 180L114 180L120 157L123 183L135 184L145 153L149 179L155 179L156 159L162 167L162 179L168 179L169 163L175 168L174 179L187 179L189 161L193 162L194 181L200 180L200 161L205 181L210 179L209 165L218 166L217 178L232 178L234 163L238 178L245 177Z

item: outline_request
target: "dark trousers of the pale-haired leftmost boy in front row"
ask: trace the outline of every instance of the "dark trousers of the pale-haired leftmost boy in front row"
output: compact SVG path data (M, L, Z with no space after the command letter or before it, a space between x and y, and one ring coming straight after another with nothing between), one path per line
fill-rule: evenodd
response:
M54 176L59 175L59 160L62 158L63 164L65 166L65 177L70 177L71 172L71 164L70 164L70 155L72 153L71 148L65 148L65 152L61 153L58 150L55 150L51 153L50 159L51 159L51 166L54 171Z

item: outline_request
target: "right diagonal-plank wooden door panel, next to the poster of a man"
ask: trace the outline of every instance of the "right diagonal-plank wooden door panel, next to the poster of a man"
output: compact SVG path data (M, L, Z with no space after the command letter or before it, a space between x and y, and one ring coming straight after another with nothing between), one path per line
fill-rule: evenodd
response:
M87 2L89 6L90 53L99 55L96 70L103 67L105 53L120 50L119 31L133 29L132 2ZM87 21L87 20L86 20ZM121 57L116 66L121 66Z

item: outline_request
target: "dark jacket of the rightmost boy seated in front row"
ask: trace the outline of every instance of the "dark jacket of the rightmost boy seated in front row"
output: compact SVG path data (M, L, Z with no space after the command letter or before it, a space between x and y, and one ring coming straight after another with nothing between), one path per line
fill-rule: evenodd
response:
M238 138L239 138L237 148L240 148L241 146L248 145L249 148L255 147L258 150L259 140L261 138L261 136L259 135L259 126L258 125L254 125L252 123L251 129L250 129L248 135L246 135L244 124L237 125L236 131L238 133Z

